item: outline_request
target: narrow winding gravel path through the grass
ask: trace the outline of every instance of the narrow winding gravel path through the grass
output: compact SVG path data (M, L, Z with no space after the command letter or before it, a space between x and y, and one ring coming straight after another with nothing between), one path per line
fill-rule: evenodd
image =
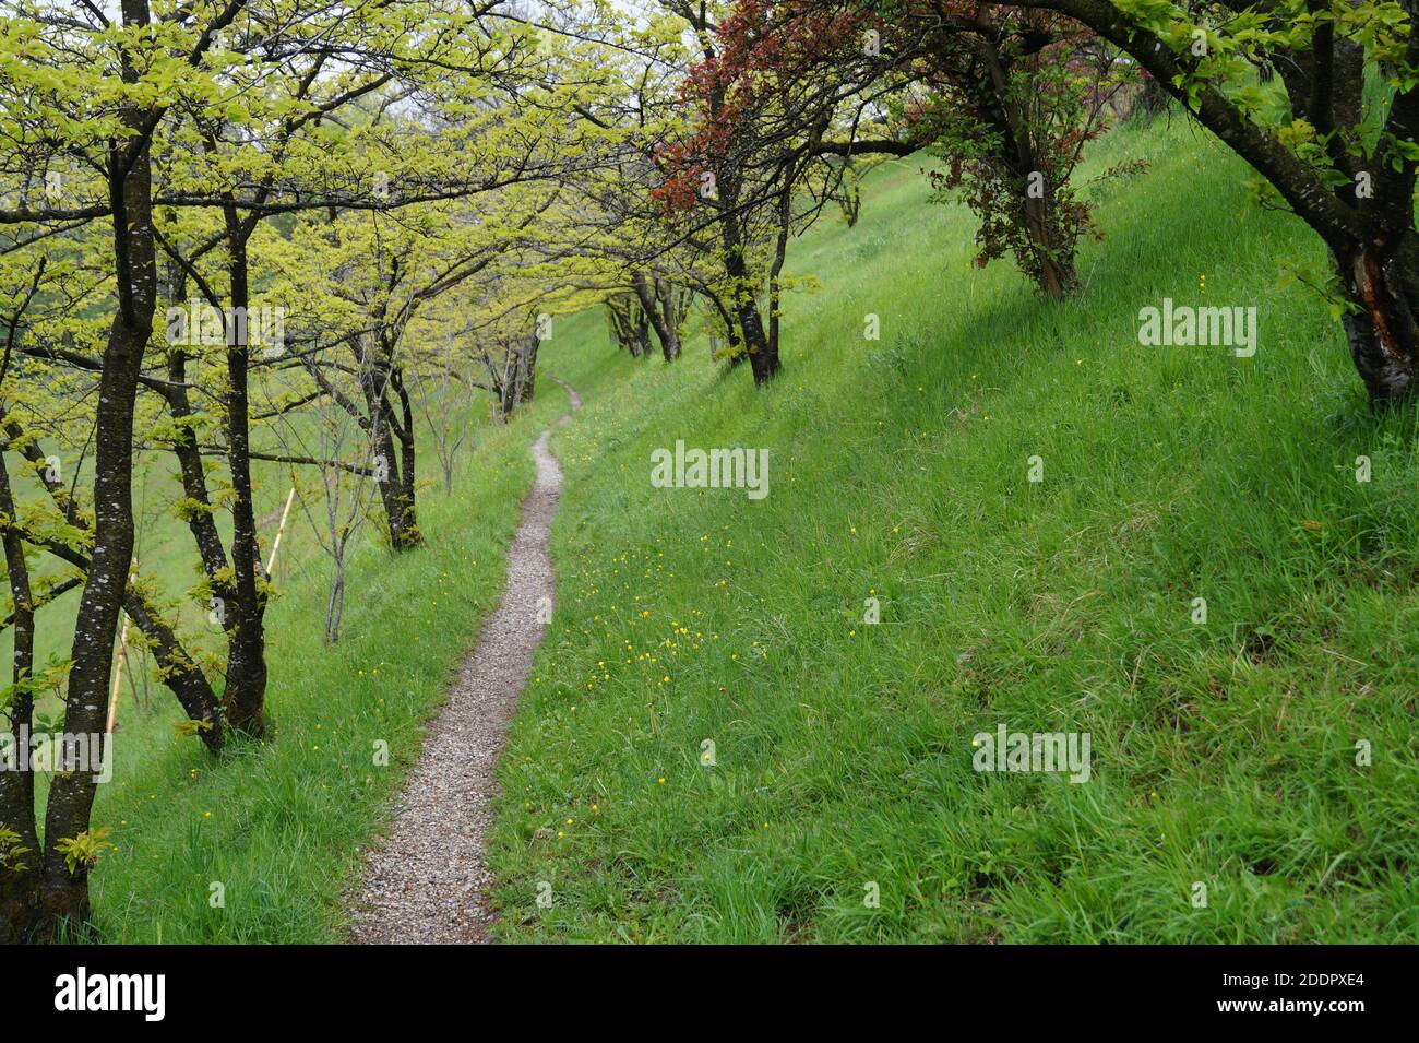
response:
M576 390L552 379L566 389L572 410L580 409ZM558 424L569 419L570 413ZM368 856L350 929L358 944L488 941L491 874L484 844L497 792L494 768L556 592L548 532L562 495L562 468L549 438L551 431L542 431L532 446L536 484L508 549L502 602L463 663L389 836Z

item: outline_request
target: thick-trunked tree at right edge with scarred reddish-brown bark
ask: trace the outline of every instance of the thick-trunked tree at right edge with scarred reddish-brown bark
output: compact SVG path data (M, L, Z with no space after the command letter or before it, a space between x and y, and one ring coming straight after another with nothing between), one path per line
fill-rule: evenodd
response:
M1419 31L1408 0L1148 4L1026 0L1057 11L1145 68L1264 179L1325 243L1332 314L1374 406L1408 402L1419 377ZM864 0L883 18L897 3ZM1277 96L1263 82L1274 71Z

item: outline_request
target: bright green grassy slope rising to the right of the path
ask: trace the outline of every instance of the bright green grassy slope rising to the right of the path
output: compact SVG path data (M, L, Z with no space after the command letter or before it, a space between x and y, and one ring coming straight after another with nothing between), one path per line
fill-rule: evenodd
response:
M596 315L559 329L586 409L501 772L505 939L1419 932L1410 419L1372 419L1324 305L1276 289L1321 247L1232 156L1156 126L1091 167L1124 158L1152 170L1093 190L1107 238L1063 305L972 268L908 159L795 244L820 288L766 390L702 338L667 368ZM1256 305L1256 356L1141 348L1164 297ZM769 495L653 488L677 438L766 447ZM1091 779L972 771L999 724L1087 731Z

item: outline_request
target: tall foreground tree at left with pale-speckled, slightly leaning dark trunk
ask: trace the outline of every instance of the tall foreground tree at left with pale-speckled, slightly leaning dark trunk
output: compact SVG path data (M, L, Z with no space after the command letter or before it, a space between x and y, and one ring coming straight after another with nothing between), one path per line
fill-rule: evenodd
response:
M40 125L41 138L58 146L51 156L65 155L68 149L82 153L94 139L105 140L102 153L92 159L102 172L106 199L98 206L82 207L33 210L21 206L4 211L0 219L6 224L31 224L72 220L75 214L111 214L116 295L101 356L95 407L92 552L79 597L65 697L67 738L60 751L65 771L55 776L48 795L40 890L34 895L33 922L27 925L43 934L87 920L88 870L101 850L88 830L95 778L79 771L84 766L81 744L87 746L94 736L102 749L106 742L102 736L109 657L133 548L133 406L158 304L150 143L172 98L163 89L136 88L145 79L150 85L172 82L179 65L196 71L213 34L228 24L238 9L240 4L233 3L207 20L200 31L186 34L184 47L166 61L153 61L159 48L153 43L156 34L149 31L148 0L121 1L121 21L104 26L102 54L92 50L88 26L75 28L57 11L44 9L23 11L4 37L0 89L9 95L4 98L6 119L24 126L4 136L26 140L33 126ZM106 23L96 10L91 14ZM17 54L21 48L23 58Z

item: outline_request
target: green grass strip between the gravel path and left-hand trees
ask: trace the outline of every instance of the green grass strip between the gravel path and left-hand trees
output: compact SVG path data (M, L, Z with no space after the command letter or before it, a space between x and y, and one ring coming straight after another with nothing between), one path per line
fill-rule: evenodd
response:
M321 640L325 569L304 568L267 613L274 741L220 761L179 739L166 690L132 714L125 695L116 771L99 788L94 826L118 846L94 880L105 942L329 942L346 927L359 849L390 819L480 622L502 593L504 551L534 477L528 446L563 413L551 380L507 427L475 433L454 497L441 478L421 494L423 549L392 558L368 539L349 568L343 639ZM434 468L431 454L427 470ZM304 518L292 515L299 541ZM307 542L314 542L307 536ZM190 553L190 548L189 548ZM51 610L53 612L53 610ZM375 763L386 742L389 766ZM213 908L211 884L224 885Z

